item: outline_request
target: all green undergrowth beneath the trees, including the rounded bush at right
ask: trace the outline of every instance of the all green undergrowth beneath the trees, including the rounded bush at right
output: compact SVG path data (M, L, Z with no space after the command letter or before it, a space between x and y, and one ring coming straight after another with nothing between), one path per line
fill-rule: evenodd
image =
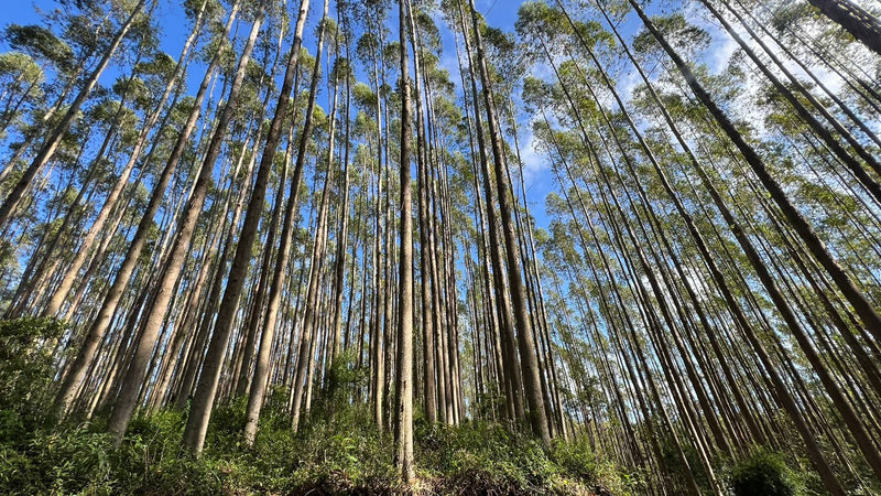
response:
M4 334L6 333L6 334ZM183 445L187 409L161 408L138 414L121 442L107 433L112 405L89 420L48 424L56 389L50 355L8 353L15 339L31 339L26 326L0 326L0 495L324 495L324 494L553 494L628 496L682 494L684 466L673 445L659 439L664 474L628 470L591 442L588 425L575 440L557 438L544 449L527 425L466 419L459 425L428 424L417 408L414 422L416 482L407 487L394 466L389 419L378 428L365 400L367 374L344 355L328 386L316 388L301 428L291 428L287 389L270 389L254 445L246 446L247 396L220 402L213 412L205 451L195 457ZM86 398L88 400L89 398ZM471 416L492 419L501 397L485 395ZM81 409L80 409L81 410ZM388 410L388 408L385 409ZM79 410L77 410L79 411ZM737 496L795 496L819 487L779 454L759 449L732 463L715 457L719 481ZM696 454L689 453L689 459ZM696 482L709 490L699 471ZM812 484L805 484L811 483Z

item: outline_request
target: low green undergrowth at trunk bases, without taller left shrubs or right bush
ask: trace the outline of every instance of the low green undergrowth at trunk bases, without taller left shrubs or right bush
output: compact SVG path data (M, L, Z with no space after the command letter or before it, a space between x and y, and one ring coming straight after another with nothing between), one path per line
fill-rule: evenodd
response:
M216 408L202 457L182 448L185 412L138 417L121 445L105 416L46 430L0 410L0 494L398 494L391 433L369 405L334 408L319 399L300 432L270 397L253 449L242 444L244 399ZM415 429L415 494L639 494L634 479L586 441L545 451L496 423Z

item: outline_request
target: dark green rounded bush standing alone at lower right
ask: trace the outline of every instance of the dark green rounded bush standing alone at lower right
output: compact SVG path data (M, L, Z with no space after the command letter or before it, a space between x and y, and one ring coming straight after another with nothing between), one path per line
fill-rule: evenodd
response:
M797 485L783 457L761 450L733 466L731 489L736 496L793 496Z

